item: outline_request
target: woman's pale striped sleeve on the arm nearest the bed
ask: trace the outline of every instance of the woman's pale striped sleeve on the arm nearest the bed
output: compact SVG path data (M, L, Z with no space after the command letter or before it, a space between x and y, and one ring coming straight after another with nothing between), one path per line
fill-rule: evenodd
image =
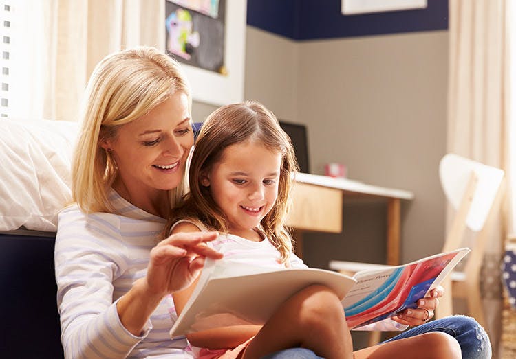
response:
M125 358L146 334L133 336L118 319L113 281L127 262L106 227L78 209L59 215L54 259L65 358Z

